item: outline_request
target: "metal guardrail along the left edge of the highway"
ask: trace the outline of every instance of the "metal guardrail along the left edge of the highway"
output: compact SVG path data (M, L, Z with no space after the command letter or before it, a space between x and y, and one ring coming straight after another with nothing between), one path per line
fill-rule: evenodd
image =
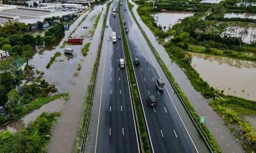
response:
M103 22L104 22L105 18L103 17ZM99 60L97 61L96 65L96 70L94 73L94 79L93 82L90 86L92 86L92 90L91 90L91 96L90 96L90 102L89 102L89 109L88 109L88 113L86 116L86 122L85 122L85 126L84 126L84 133L83 133L83 138L82 138L82 143L81 143L81 147L80 147L80 153L84 152L84 147L85 147L85 140L86 140L86 136L87 136L87 130L89 128L89 121L90 121L90 116L91 116L91 109L92 109L92 102L93 102L93 97L94 97L94 90L95 90L95 84L97 81L97 74L98 74L98 70L99 70L99 62L100 62L100 53L101 53L101 48L102 48L102 42L103 42L103 36L104 36L104 32L105 32L105 25L104 28L102 27L101 29L101 36L100 36L100 46L99 46L99 50L98 50L98 55L96 58L99 58Z

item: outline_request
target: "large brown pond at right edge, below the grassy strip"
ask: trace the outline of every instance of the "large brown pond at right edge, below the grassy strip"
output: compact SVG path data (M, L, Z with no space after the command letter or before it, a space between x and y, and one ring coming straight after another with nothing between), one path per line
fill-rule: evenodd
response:
M225 95L228 94L228 88L231 88L229 95L237 97L241 97L242 90L245 90L244 98L256 100L256 62L191 52L189 54L193 56L191 65L210 86L219 87L219 90L225 88Z

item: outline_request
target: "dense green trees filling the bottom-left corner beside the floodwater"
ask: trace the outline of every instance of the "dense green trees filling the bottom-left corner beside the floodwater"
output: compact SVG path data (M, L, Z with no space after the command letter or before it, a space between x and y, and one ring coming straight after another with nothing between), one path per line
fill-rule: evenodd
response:
M43 112L36 117L35 121L29 122L27 127L19 132L12 133L7 130L0 133L0 152L47 152L53 122L56 122L60 115L60 112Z

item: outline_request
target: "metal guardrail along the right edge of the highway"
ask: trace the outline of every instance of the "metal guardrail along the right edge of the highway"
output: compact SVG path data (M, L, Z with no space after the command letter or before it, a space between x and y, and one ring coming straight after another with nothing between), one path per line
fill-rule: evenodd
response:
M129 7L130 10L130 7ZM131 11L131 10L130 10ZM143 31L143 29L141 28L139 22L137 21L136 18L134 18L134 16L132 15L133 20L135 21L135 23L138 25L143 37L146 39L148 46L150 47L151 51L153 52L153 54L156 57L157 62L159 63L159 65L162 67L162 70L164 71L167 79L169 80L169 82L171 83L174 91L176 92L176 94L178 95L178 98L180 99L180 101L182 102L183 106L186 108L186 111L188 112L191 120L194 122L194 124L196 125L197 130L199 131L199 133L201 134L201 136L203 137L207 147L211 150L211 152L217 152L215 150L215 148L213 147L211 141L209 140L209 138L207 137L206 133L204 132L204 130L202 129L200 123L197 121L197 117L195 117L195 115L193 114L193 112L191 111L190 107L187 106L187 104L184 102L185 100L183 99L183 97L180 96L180 93L177 90L177 87L174 85L174 81L171 79L171 77L169 76L169 74L166 72L165 68L164 68L164 63L162 62L162 60L158 57L158 53L155 49L155 47L150 43L150 40L148 39L146 33Z

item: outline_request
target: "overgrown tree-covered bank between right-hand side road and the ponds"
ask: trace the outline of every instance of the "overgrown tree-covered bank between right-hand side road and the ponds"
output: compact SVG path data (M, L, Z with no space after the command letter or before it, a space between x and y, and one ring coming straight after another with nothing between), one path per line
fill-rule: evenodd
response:
M222 7L219 7L218 9L221 12ZM148 15L147 12L146 13L144 12L142 14L141 12L139 12L139 10L137 11L141 16L142 21L147 26L149 26L150 24L152 24L152 22L154 22L154 20L152 22L151 20L150 22L149 20L143 20L142 15L145 15L145 14ZM217 13L215 15L217 16L217 15L220 15L221 13ZM183 52L183 50L189 49L189 43L191 43L191 40L192 41L200 40L201 43L204 42L206 44L205 45L206 48L204 52L207 52L208 54L212 54L212 53L218 54L218 51L215 50L216 52L215 51L213 52L213 50L210 48L211 46L209 47L207 45L228 47L228 48L233 47L241 51L246 49L252 50L253 44L251 44L250 46L244 45L242 43L241 38L234 38L234 37L221 38L220 35L212 35L211 33L206 33L211 31L211 29L209 29L210 24L206 24L210 22L207 22L207 21L205 22L201 20L202 15L203 14L195 14L192 18L189 17L181 20L182 22L175 24L173 28L168 31L168 33L163 32L159 27L154 28L153 32L164 33L164 35L170 35L173 37L169 42L163 44L170 58L172 58L172 60L181 67L181 69L185 72L191 84L197 91L201 92L201 94L205 98L214 99L213 101L211 101L210 105L213 107L214 111L216 111L219 114L219 116L224 116L223 120L226 122L226 125L229 127L230 131L234 135L236 135L237 139L242 140L243 148L246 150L246 152L252 152L252 151L255 152L255 146L256 146L255 133L256 132L251 127L251 125L244 120L244 117L246 115L248 116L255 115L256 108L254 106L256 102L251 100L246 100L244 98L231 96L230 92L228 95L223 95L223 90L210 87L209 84L207 84L207 82L205 82L199 76L198 72L193 68L193 66L191 66L191 59L192 59L191 55L189 55L186 52ZM222 23L219 26L220 26L219 27L220 29L223 29L223 27L227 27L227 24ZM195 31L197 31L198 33L196 33ZM161 35L157 35L157 36L161 36ZM190 39L191 37L195 39ZM222 44L221 42L225 42L225 44ZM229 53L230 52L227 51L227 54ZM233 56L232 54L234 53L231 53L229 56ZM252 58L250 61L253 61ZM167 70L167 67L166 67L166 70ZM174 81L174 78L172 79ZM230 89L228 89L228 91L229 90ZM235 92L236 91L234 91L234 94ZM244 91L242 91L242 94L243 92ZM189 103L188 100L187 100L187 103ZM189 103L189 105L191 104Z

